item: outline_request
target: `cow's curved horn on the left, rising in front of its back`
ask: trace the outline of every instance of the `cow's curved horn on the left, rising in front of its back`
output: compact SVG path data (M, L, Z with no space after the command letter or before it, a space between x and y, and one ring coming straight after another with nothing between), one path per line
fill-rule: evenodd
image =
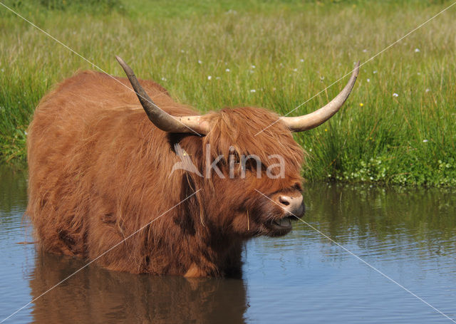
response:
M209 125L206 121L201 120L201 116L174 117L164 110L161 110L142 88L130 66L128 66L128 64L119 56L115 56L115 58L125 71L128 80L130 80L133 90L135 90L136 95L138 95L138 99L140 100L147 117L149 117L150 121L160 128L160 130L164 130L165 132L190 132L197 135L206 135L209 132Z

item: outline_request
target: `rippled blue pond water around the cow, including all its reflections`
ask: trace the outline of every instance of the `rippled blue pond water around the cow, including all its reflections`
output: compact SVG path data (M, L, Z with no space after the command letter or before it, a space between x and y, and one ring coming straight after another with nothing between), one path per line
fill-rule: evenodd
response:
M304 221L456 320L456 189L307 185ZM0 167L0 321L81 268L37 254L26 175ZM303 223L244 251L242 279L90 265L4 323L452 323Z

